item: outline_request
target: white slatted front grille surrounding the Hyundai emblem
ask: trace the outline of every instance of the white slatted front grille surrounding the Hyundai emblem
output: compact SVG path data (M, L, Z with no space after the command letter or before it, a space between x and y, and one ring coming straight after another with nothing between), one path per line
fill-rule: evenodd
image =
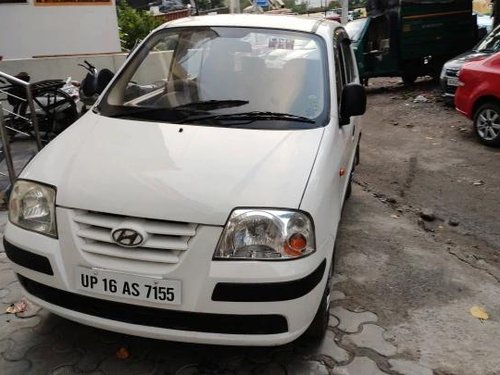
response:
M196 235L196 224L150 220L92 211L76 210L76 236L83 252L135 261L176 264ZM140 227L146 233L143 244L127 248L116 244L111 232L116 228Z

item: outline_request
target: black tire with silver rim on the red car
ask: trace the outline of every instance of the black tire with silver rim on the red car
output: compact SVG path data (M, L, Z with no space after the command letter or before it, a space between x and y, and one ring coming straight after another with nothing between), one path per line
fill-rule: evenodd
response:
M487 102L474 113L474 131L487 146L500 146L500 103Z

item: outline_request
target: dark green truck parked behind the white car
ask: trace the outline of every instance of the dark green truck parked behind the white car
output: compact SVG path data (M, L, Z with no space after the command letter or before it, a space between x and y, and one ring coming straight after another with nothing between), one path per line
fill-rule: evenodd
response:
M347 24L361 77L439 78L477 40L471 0L368 0L367 18Z

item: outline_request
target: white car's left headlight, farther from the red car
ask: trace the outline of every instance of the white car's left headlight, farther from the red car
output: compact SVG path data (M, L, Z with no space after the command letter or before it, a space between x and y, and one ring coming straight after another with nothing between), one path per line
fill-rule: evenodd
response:
M56 190L36 182L19 180L9 202L9 220L24 229L57 237Z

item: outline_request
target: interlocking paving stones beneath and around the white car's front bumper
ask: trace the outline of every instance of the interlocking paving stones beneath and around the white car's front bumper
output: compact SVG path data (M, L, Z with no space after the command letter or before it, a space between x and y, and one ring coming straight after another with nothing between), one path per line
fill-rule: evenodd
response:
M277 348L190 345L133 337L71 322L32 303L25 313L7 314L5 309L21 298L23 291L0 248L2 375L432 374L395 356L397 348L384 339L377 315L347 310L342 303L348 296L339 290L332 292L330 326L321 342L301 338ZM129 358L116 357L122 347Z

